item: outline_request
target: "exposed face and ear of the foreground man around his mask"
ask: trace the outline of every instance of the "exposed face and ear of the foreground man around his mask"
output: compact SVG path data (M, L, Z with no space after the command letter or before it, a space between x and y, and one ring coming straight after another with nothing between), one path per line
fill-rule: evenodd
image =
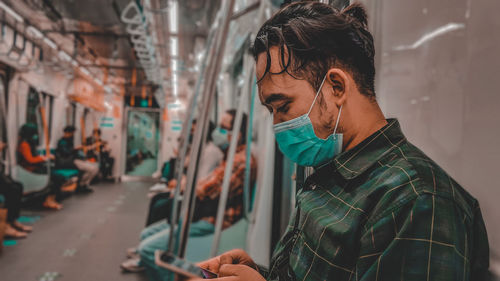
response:
M272 47L270 72L281 72L279 49ZM266 69L267 58L261 53L257 59L257 77L261 78ZM321 77L322 79L323 77ZM266 74L259 83L259 97L261 103L273 114L274 124L282 123L306 114L311 107L318 89L314 89L306 80L295 79L289 74ZM333 132L334 118L338 108L333 100L331 86L325 81L322 93L319 94L309 118L314 126L316 135L326 138Z

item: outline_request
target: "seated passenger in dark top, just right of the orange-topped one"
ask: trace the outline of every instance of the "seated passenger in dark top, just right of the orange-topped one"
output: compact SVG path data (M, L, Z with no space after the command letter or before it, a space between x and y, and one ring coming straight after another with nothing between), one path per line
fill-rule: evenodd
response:
M83 174L79 179L76 192L89 193L93 191L90 188L90 182L99 173L99 165L85 160L79 154L83 146L74 146L75 130L73 126L66 126L64 128L63 137L57 142L56 168L78 169Z

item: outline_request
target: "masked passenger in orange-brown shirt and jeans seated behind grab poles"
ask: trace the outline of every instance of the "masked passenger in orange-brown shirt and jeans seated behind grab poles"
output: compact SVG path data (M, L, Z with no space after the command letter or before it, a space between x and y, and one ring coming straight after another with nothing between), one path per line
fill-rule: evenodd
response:
M217 140L216 143L219 147L223 148L226 156L232 137L231 130L234 125L235 115L236 111L234 110L226 111L222 117L220 128L214 130L212 134L214 141ZM243 216L243 180L246 165L246 119L244 115L242 126L238 133L238 147L234 157L223 228L231 226ZM250 163L251 182L253 182L256 172L256 163L253 156L251 157ZM226 160L215 168L208 177L200 180L196 186L195 192L197 202L194 210L193 223L189 230L189 235L191 237L209 235L215 230L214 223L217 204L222 189L225 167ZM150 277L153 277L154 280L161 280L162 277L166 276L167 271L156 266L154 253L156 250L166 250L169 232L170 227L166 221L160 221L145 228L141 233L141 243L138 252L128 253L131 258L122 263L122 269L128 272L139 272L147 269Z

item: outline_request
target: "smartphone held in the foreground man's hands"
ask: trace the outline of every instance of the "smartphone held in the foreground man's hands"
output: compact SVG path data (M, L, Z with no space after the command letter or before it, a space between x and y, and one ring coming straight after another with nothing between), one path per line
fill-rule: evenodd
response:
M202 277L204 279L213 279L219 277L217 274L196 266L195 264L181 259L172 253L160 250L155 252L155 262L158 266L189 278Z

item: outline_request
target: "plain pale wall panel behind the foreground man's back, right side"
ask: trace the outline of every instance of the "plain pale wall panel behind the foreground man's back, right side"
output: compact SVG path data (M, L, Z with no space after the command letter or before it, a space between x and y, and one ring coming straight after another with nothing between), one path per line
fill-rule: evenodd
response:
M500 1L364 2L384 112L479 200L500 272Z

